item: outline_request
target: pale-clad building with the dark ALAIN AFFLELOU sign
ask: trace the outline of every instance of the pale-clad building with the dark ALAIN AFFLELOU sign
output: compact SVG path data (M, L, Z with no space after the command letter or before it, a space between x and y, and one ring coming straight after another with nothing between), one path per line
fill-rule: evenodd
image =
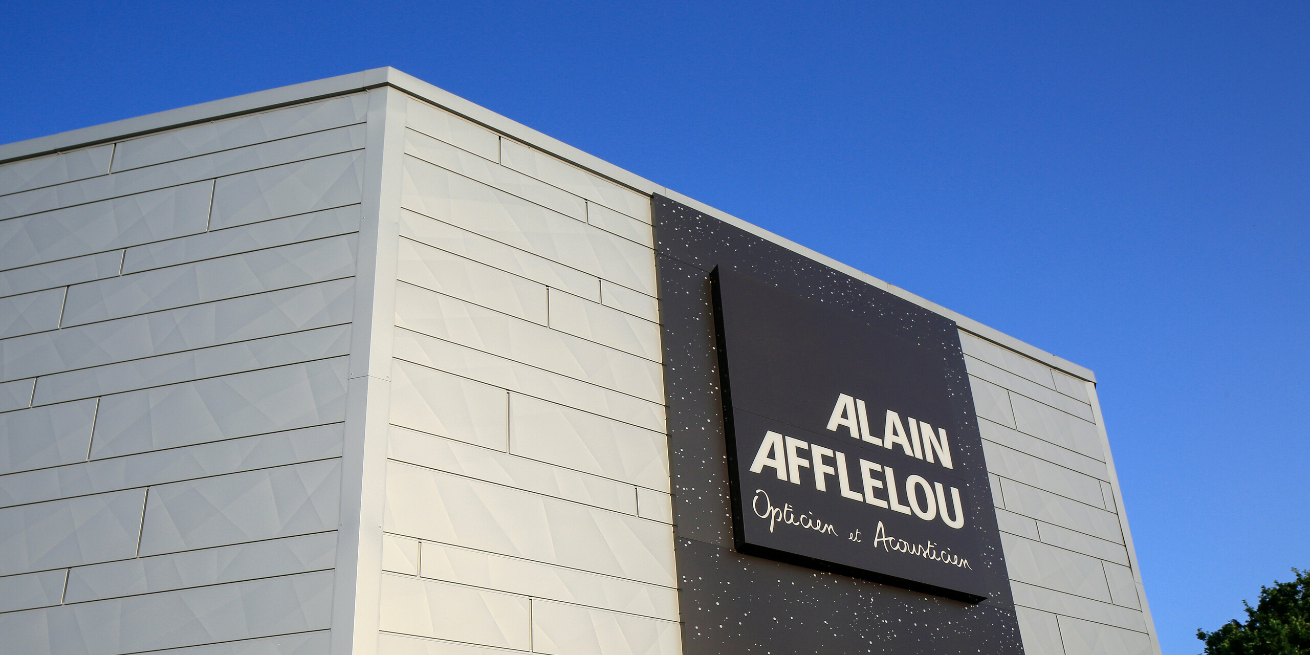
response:
M1090 371L405 73L0 162L4 652L1159 652ZM990 582L741 541L715 269L933 326Z

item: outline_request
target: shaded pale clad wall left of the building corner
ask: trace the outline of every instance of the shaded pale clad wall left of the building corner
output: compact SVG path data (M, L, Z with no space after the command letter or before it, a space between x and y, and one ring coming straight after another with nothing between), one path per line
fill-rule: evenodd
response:
M367 106L0 165L0 650L326 651Z

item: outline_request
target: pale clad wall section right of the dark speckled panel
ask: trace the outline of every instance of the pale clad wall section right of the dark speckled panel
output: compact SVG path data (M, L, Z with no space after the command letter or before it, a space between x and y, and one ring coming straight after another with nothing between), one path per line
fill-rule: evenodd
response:
M960 331L1028 655L1149 655L1094 385Z

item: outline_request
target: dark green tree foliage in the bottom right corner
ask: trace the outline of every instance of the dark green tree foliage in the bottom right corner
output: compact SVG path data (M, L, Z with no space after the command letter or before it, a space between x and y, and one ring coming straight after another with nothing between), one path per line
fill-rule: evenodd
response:
M1196 630L1205 655L1310 655L1310 571L1292 570L1296 580L1260 587L1260 601L1247 601L1247 621L1235 618L1213 633Z

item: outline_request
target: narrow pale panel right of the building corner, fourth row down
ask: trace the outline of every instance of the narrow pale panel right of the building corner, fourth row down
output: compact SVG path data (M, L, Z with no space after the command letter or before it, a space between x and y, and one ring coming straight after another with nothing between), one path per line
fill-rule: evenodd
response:
M482 262L502 271L540 282L550 288L563 290L588 300L600 300L600 286L605 284L595 275L578 269L570 269L527 250L508 248L506 244L493 238L409 210L401 210L400 233L405 238L427 244L466 259Z

